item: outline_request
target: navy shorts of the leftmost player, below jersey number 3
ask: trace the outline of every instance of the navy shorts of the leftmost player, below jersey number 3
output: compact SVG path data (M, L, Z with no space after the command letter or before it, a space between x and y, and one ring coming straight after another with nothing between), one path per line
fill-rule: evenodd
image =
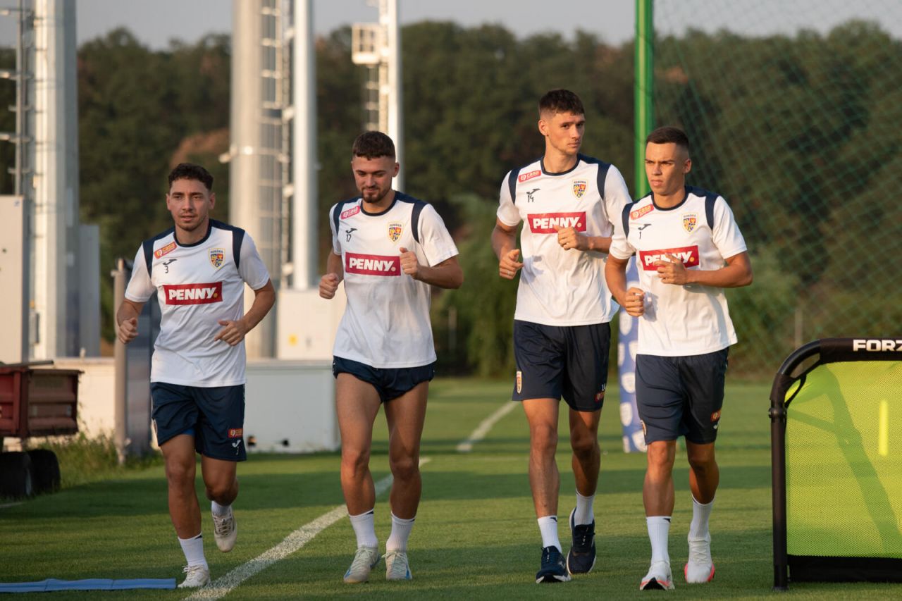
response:
M151 383L153 429L157 444L179 434L193 434L204 457L244 461L244 384L183 386Z

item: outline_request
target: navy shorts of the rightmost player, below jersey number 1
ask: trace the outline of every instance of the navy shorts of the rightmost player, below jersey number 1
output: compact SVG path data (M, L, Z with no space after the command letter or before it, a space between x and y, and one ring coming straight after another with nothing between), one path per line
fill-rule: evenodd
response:
M646 444L717 439L729 347L705 355L636 356L636 406Z

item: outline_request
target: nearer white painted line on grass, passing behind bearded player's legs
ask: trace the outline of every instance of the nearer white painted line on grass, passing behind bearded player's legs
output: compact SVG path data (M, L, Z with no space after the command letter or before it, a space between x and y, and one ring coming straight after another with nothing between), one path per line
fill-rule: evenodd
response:
M428 458L420 458L419 465L428 462ZM376 495L382 495L391 486L391 474L385 476L375 484ZM188 599L221 599L228 595L235 587L238 587L244 580L251 578L262 570L269 568L273 563L285 559L291 553L299 550L312 541L319 532L323 532L329 526L342 519L347 515L347 507L338 505L327 513L323 513L313 522L305 523L298 530L291 532L275 547L270 550L263 551L261 555L251 559L237 568L230 571L226 576L216 578L207 587L203 587L193 595L186 596Z

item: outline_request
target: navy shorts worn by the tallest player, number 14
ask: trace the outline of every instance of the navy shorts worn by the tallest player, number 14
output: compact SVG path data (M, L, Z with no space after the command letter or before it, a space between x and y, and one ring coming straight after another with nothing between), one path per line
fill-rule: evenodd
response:
M611 325L545 326L513 322L517 360L514 401L560 399L575 411L598 411L608 383Z

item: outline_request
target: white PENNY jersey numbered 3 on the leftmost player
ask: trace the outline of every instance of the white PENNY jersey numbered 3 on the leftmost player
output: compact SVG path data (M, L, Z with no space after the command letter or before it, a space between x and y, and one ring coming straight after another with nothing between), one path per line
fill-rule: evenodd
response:
M220 319L244 316L244 283L269 282L251 236L210 219L207 236L182 245L170 228L147 240L134 256L125 298L160 302L160 334L153 345L151 382L185 386L244 384L244 340L230 347L214 340Z

